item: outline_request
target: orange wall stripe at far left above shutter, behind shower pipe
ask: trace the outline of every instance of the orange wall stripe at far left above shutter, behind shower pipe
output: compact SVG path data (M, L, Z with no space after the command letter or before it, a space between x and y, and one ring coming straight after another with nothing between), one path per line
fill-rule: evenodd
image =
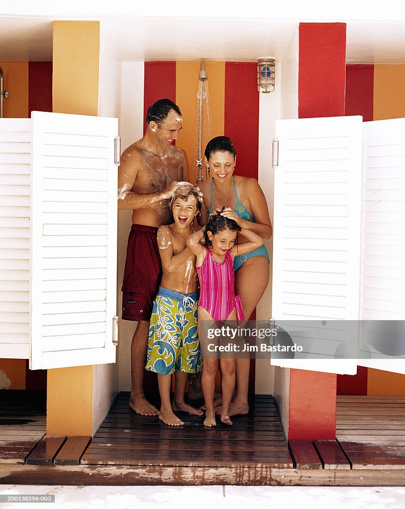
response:
M0 67L9 93L4 101L5 118L28 118L28 62L0 62Z

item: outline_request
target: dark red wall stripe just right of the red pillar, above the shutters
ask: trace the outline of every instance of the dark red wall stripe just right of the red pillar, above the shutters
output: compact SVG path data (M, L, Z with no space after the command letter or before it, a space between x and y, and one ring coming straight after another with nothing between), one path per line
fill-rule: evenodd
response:
M364 122L373 120L374 66L346 66L345 115L361 115Z

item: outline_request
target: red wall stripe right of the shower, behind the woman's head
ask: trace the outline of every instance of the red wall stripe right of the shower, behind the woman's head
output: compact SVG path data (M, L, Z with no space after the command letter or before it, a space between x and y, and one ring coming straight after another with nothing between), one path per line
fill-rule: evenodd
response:
M235 175L257 179L259 92L255 62L225 64L224 131L236 149Z

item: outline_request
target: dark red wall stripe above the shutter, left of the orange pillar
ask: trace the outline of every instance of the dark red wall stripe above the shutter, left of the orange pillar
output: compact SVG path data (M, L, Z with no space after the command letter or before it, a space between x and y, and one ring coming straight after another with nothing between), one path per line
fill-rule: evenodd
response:
M28 112L52 111L52 62L28 63Z

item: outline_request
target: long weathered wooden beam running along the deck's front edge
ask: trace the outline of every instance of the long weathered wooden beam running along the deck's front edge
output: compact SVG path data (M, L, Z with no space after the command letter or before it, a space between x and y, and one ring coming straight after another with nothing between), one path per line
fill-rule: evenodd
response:
M0 465L3 484L48 486L405 486L403 470L327 470L254 466Z

